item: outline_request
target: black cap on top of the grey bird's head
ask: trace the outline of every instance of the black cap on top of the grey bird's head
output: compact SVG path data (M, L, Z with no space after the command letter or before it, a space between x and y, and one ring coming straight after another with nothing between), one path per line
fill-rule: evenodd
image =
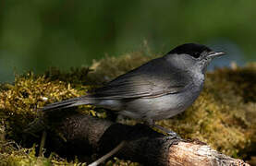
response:
M185 43L177 46L175 49L170 51L169 53L186 53L195 58L200 57L202 52L212 52L212 50L205 45L196 44L196 43ZM168 53L168 54L169 54Z

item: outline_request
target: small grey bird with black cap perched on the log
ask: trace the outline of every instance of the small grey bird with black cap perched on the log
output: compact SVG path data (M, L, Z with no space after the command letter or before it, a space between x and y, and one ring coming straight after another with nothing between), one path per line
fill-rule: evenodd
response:
M175 132L155 125L155 121L173 117L192 105L203 88L207 65L214 57L223 54L202 44L185 43L87 95L48 104L41 111L90 104L177 136Z

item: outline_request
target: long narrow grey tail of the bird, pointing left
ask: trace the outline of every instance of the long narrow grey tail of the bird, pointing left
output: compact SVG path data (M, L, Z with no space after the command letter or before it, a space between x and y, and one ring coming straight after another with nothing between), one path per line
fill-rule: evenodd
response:
M55 103L48 104L41 108L39 111L42 112L51 112L55 110L60 110L60 109L66 109L69 107L75 107L79 105L85 105L85 104L91 104L93 101L93 98L87 97L87 96L82 96L78 98L72 98L66 101L59 101Z

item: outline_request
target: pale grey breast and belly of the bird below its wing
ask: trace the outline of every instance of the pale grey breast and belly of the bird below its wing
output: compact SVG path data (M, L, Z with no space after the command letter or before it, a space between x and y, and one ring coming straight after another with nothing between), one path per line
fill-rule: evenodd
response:
M191 83L178 93L167 94L157 98L140 98L128 103L126 114L133 118L162 120L185 111L200 95L200 86Z

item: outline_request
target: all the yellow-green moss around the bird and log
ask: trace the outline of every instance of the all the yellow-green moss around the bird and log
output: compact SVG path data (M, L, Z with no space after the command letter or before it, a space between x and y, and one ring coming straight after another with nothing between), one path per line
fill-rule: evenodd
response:
M14 148L7 138L20 140L24 128L37 116L36 110L47 103L86 94L154 56L131 53L121 57L105 57L88 67L62 72L51 68L42 76L31 72L16 76L14 84L0 86L0 150L2 163L9 165L74 164L61 158L37 158L34 148ZM185 138L199 138L223 153L248 158L256 145L256 63L233 69L222 68L208 73L199 99L184 113L158 122ZM104 117L92 106L81 106L82 113ZM134 124L133 120L123 121ZM3 145L10 145L4 148ZM59 162L59 163L58 163ZM0 164L2 164L0 163ZM79 163L76 162L76 163ZM106 165L137 165L123 160L110 160ZM79 163L81 164L81 163ZM77 164L78 165L78 164Z

